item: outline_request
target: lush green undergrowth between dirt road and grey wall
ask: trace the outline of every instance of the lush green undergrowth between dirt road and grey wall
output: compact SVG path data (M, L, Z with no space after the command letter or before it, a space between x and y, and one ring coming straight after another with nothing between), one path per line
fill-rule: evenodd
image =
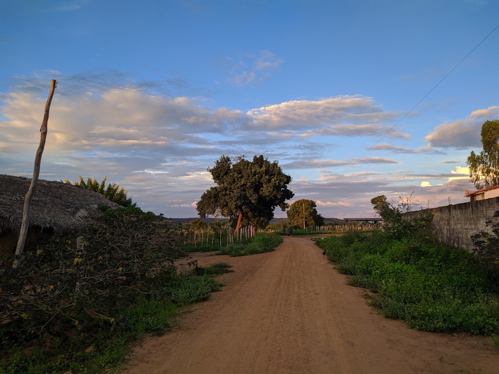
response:
M427 229L431 215L407 221L384 196L372 200L383 231L319 238L328 258L369 303L393 319L430 332L487 335L498 346L498 269L469 252L440 244Z

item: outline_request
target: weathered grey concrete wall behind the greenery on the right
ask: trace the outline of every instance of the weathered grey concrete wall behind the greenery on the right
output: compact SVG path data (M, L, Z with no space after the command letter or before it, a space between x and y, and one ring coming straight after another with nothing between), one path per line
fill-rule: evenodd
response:
M423 212L433 214L431 229L437 239L471 252L475 248L471 236L480 231L492 232L492 227L486 227L486 222L489 220L498 222L498 219L494 218L494 213L498 210L499 197L492 197L456 205L416 210L404 213L404 217L411 219Z

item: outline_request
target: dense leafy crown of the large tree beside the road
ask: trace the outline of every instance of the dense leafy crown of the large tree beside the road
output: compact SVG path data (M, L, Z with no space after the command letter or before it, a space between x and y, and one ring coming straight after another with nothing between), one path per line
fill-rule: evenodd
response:
M261 155L254 156L253 161L244 156L234 160L222 156L208 171L217 186L208 189L198 201L196 209L201 218L219 215L239 218L238 226L265 227L275 207L286 210L286 200L294 196L287 188L291 177L282 172L277 161L271 163Z

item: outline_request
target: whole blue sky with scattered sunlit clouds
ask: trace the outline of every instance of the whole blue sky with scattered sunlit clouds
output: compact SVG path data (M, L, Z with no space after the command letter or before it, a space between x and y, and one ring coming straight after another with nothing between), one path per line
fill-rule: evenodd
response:
M222 155L277 160L325 217L465 202L498 25L496 0L3 0L0 174L32 176L56 79L40 178L146 211L195 217Z

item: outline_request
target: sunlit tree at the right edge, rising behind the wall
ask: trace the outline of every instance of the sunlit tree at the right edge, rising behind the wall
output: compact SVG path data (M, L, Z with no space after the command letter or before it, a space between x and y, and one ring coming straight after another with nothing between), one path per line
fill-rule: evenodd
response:
M470 182L478 189L499 185L499 120L485 121L481 135L483 150L471 151L466 160Z

